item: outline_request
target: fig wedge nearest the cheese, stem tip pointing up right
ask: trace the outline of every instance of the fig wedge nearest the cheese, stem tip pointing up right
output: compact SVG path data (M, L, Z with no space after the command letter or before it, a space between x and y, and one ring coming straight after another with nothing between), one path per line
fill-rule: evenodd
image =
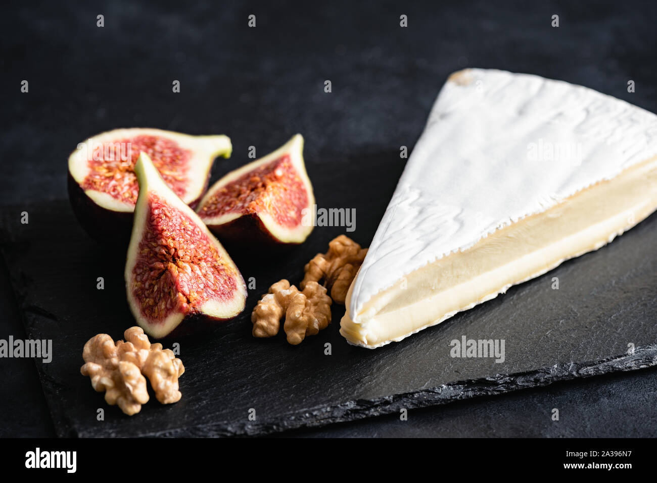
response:
M303 149L304 138L295 135L215 182L196 209L202 221L228 242L304 242L315 224L315 197Z

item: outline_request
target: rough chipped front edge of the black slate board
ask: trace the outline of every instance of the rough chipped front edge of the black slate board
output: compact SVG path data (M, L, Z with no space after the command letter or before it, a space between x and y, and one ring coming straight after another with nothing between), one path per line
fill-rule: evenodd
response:
M381 398L353 400L335 406L318 406L288 413L271 421L265 420L263 423L210 423L162 432L150 432L141 436L168 438L263 436L292 429L323 427L336 423L357 421L367 417L399 413L401 408L407 410L428 408L457 400L543 387L560 381L577 379L578 377L633 371L653 366L657 366L657 344L637 348L631 354L623 354L594 362L556 364L548 368L510 375L499 374L495 377L481 379L468 379L440 387ZM110 434L99 434L97 432L93 434L74 432L74 434L81 438L111 436Z

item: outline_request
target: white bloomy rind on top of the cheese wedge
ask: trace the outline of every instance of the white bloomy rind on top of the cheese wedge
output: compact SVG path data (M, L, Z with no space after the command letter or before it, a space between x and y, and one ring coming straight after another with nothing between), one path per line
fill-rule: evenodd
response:
M371 319L373 298L404 276L656 155L657 116L622 100L535 75L452 75L351 286L348 318Z

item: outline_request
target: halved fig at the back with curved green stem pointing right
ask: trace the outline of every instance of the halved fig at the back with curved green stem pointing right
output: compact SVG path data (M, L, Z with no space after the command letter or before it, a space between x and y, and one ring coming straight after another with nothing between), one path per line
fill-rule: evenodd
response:
M231 156L230 138L191 136L160 129L114 129L78 144L68 158L68 196L80 224L101 242L130 237L139 186L135 163L150 156L168 186L196 207L217 156Z

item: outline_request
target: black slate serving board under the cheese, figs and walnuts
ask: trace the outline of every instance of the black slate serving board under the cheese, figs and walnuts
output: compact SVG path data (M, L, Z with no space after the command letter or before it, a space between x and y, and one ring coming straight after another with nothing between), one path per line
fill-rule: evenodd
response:
M345 175L323 168L335 165L352 175L385 173L374 180L380 181L380 196L329 190ZM356 207L357 230L351 235L367 245L394 188L396 175L390 173L401 170L396 154L361 156L357 162L310 159L308 168L311 177L325 180L317 184L324 205L339 206L342 200ZM28 211L29 224L20 223L22 211ZM288 346L282 335L254 339L250 310L260 294L282 277L298 282L304 263L342 232L318 227L306 243L269 262L235 256L244 278L254 277L258 286L250 291L247 310L210 335L177 340L187 368L179 403L160 406L152 398L139 415L126 417L107 407L79 374L89 337L106 332L118 339L133 325L122 278L124 249L89 239L66 200L4 209L1 221L2 251L26 333L53 339L53 361L37 362L37 368L60 436L265 434L657 363L656 216L595 253L401 343L377 350L347 345L338 334L343 313L338 306L334 323L298 347ZM99 276L103 290L97 289ZM552 289L555 276L558 290ZM449 342L463 335L505 339L505 362L451 358ZM629 343L633 354L627 353ZM104 421L97 421L97 408L105 408ZM255 421L248 419L250 409L256 410Z

